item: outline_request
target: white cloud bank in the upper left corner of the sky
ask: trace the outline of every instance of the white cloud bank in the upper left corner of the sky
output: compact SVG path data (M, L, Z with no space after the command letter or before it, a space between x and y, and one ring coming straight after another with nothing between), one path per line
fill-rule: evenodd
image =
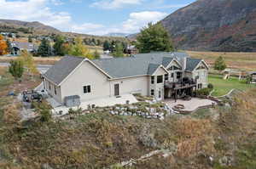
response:
M71 19L66 12L54 12L47 7L48 3L60 4L58 0L0 0L0 18L6 20L40 21L45 25L52 25L65 30Z

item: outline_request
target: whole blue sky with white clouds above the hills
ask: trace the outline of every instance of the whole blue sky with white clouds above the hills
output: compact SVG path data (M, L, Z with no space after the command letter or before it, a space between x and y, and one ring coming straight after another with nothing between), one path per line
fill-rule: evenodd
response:
M195 0L0 0L0 19L39 21L61 31L132 34Z

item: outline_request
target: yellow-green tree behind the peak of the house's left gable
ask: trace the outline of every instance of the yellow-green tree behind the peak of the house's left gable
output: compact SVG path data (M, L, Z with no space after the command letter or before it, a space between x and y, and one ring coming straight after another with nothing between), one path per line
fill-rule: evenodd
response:
M74 44L71 46L68 54L93 59L93 55L90 54L90 50L86 48L83 44L83 40L79 37L75 38Z

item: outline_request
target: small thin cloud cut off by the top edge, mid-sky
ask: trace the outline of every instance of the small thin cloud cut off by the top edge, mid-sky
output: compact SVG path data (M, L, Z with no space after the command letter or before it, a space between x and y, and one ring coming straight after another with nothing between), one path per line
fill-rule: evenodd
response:
M101 0L92 3L91 7L113 9L113 8L123 8L126 5L137 5L143 3L143 0Z

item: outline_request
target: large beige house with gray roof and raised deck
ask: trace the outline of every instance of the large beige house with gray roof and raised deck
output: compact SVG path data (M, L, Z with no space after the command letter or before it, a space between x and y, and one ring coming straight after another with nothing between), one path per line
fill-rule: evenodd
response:
M208 65L186 53L136 54L113 59L66 56L44 75L44 87L59 103L79 96L81 102L127 93L177 99L207 87Z

